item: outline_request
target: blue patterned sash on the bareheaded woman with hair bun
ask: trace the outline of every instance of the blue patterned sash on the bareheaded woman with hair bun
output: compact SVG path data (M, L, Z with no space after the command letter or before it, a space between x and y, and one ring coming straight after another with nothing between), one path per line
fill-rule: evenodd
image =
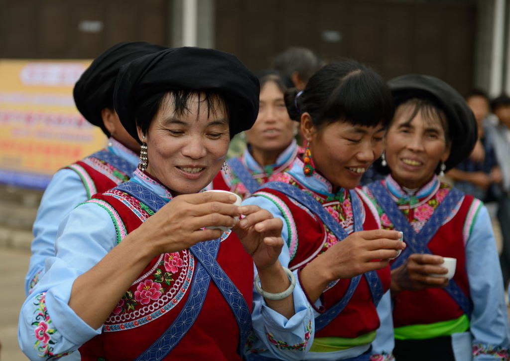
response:
M322 204L320 204L317 200L315 200L308 193L303 190L292 186L290 184L284 182L268 182L264 184L264 188L270 188L282 192L288 197L293 198L297 202L301 203L303 206L307 207L312 213L317 215L319 219L335 234L339 241L346 238L349 234L342 226L329 214ZM354 190L349 190L351 204L352 204L352 214L354 217L354 232L363 230L363 222L360 220L360 216L362 214L362 203L358 195ZM370 292L372 294L372 300L374 304L377 306L382 295L384 294L384 288L382 288L382 282L379 278L379 275L375 271L370 271L364 274L365 278L370 287ZM356 287L360 283L361 276L355 276L350 279L349 287L345 292L344 296L338 301L336 304L327 309L323 314L319 315L315 319L315 329L320 330L324 328L329 322L333 321L342 310L345 308L347 303L349 303L354 291L356 291Z

